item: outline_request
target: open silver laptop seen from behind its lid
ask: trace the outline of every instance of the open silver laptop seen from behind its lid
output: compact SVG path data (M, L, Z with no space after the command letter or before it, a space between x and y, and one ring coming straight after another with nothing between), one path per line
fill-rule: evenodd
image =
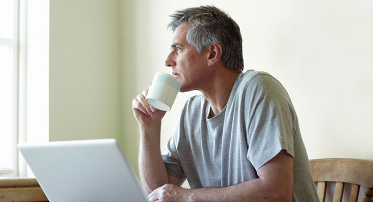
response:
M51 202L148 202L115 139L21 143L18 148Z

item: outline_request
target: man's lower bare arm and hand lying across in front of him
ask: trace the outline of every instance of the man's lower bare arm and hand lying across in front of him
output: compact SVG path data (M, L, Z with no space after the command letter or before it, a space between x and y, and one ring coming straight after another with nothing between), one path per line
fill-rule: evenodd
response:
M151 202L290 202L293 196L293 157L285 150L258 170L258 179L222 188L183 189L165 184L149 195Z

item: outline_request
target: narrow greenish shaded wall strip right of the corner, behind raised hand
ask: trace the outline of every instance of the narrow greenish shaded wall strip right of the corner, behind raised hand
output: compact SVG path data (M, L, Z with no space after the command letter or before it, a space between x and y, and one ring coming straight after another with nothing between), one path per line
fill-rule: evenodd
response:
M132 99L137 95L136 75L136 27L135 3L133 0L120 0L120 114L122 147L136 174L138 174L138 130L137 122L133 117Z

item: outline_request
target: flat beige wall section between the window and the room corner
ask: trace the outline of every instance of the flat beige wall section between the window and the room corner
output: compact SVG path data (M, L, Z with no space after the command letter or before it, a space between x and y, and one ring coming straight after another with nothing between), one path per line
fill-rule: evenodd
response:
M117 0L50 1L50 140L120 138Z

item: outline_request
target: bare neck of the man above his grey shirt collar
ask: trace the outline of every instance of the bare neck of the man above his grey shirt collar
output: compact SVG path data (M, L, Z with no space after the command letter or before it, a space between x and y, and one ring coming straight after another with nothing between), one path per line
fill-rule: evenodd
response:
M221 112L227 105L237 75L240 72L240 70L232 71L225 67L221 68L213 74L205 88L200 89L211 105L210 117Z

